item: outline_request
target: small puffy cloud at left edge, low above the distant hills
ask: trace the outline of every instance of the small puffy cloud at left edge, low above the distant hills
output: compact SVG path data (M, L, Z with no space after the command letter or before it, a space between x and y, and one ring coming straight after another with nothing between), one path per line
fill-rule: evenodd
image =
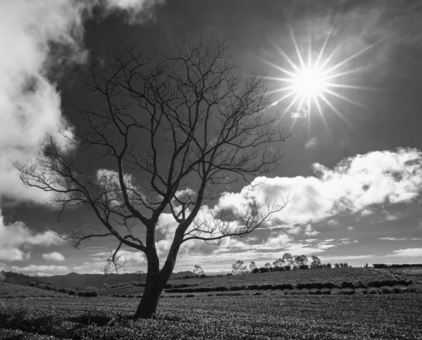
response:
M32 232L23 222L4 224L0 210L0 260L21 261L30 258L30 246L51 246L62 244L53 231ZM25 248L25 251L22 249Z

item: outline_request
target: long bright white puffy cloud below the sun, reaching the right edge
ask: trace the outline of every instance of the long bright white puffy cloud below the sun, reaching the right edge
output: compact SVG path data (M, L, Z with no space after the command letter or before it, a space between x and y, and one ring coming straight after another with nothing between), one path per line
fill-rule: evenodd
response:
M407 203L422 189L422 153L417 149L373 151L341 160L333 169L314 163L309 177L257 177L253 191L226 192L220 208L241 209L253 198L281 203L274 214L283 223L307 224L342 213L364 213L374 205Z

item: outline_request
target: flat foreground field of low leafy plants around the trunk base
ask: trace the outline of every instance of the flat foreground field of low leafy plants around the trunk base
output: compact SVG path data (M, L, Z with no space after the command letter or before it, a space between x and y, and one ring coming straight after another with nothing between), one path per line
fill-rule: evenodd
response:
M0 339L422 339L422 294L162 298L134 321L138 302L3 300Z

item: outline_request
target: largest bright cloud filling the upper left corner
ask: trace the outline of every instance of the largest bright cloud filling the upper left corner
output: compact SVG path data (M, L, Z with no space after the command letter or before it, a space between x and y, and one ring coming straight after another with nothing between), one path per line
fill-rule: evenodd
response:
M45 132L58 141L58 126L72 138L61 113L56 81L66 66L84 63L84 21L94 7L104 15L126 11L129 23L153 18L162 0L0 1L0 199L44 203L46 193L26 188L12 162L34 160ZM98 7L99 6L99 7Z

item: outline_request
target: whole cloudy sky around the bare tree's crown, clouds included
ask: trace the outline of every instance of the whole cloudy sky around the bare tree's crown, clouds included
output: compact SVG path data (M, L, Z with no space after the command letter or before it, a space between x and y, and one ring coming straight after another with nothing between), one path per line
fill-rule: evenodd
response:
M291 136L281 145L281 165L254 180L262 183L255 195L293 199L248 237L220 247L184 244L174 271L229 271L236 260L261 266L283 253L356 266L422 263L421 12L409 0L1 1L0 270L101 272L117 241L91 239L75 249L58 238L98 221L84 207L57 220L47 194L25 187L13 162L34 160L45 132L77 131L77 107L96 101L86 85L89 53L113 53L120 42L167 51L198 37L224 39L243 75L266 80L270 109L283 115ZM312 69L308 56L312 65L326 62L331 92L320 96L321 79L296 75ZM296 87L283 99L292 80ZM318 102L308 107L300 101L309 82L317 83ZM107 168L87 153L78 157ZM245 191L236 182L216 204L236 207ZM163 214L161 259L173 232L174 220ZM122 247L120 254L126 272L146 270L141 253Z

